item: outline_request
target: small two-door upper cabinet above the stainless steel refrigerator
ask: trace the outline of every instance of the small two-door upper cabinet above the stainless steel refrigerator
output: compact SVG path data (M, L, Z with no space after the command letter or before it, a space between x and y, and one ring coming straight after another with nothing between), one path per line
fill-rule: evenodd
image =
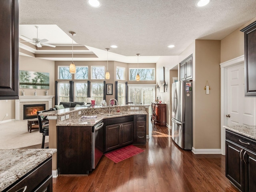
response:
M180 80L189 80L193 78L192 55L180 62Z

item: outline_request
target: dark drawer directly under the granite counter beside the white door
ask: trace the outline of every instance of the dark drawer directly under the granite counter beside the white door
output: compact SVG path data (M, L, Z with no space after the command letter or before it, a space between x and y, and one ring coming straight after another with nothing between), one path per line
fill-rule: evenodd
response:
M252 151L256 151L256 141L240 134L231 132L230 130L226 130L226 140L230 140L244 148L247 148Z

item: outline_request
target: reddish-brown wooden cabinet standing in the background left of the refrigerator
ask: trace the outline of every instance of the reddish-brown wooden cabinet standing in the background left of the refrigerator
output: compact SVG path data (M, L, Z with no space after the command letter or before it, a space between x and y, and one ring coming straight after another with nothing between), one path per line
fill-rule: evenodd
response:
M166 104L152 103L152 122L159 126L166 126Z

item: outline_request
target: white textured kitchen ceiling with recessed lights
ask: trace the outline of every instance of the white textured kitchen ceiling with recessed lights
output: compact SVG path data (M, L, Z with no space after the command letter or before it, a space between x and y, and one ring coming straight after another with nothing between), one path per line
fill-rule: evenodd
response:
M55 24L68 36L76 32L78 44L115 44L110 52L123 56L178 55L195 39L221 40L256 17L256 0L211 0L202 8L197 0L100 0L100 8L86 0L19 2L20 24Z

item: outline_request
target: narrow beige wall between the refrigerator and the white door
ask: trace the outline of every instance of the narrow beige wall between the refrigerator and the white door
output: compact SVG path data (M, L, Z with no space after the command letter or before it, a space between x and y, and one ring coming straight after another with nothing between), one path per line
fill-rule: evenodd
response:
M195 149L220 149L220 40L196 40L193 79ZM206 94L206 81L210 94Z

